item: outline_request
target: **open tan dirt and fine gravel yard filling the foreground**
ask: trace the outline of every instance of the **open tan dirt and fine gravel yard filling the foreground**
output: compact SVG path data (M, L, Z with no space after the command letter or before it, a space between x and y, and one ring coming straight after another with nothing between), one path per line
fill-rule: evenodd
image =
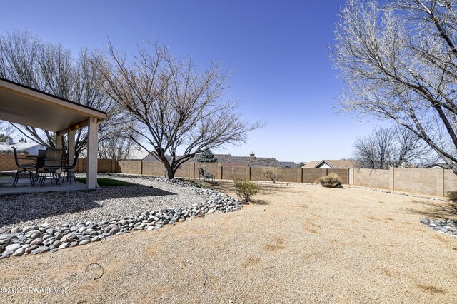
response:
M451 204L304 184L262 183L255 198L233 213L0 260L0 302L457 303L457 238L419 222L457 218Z

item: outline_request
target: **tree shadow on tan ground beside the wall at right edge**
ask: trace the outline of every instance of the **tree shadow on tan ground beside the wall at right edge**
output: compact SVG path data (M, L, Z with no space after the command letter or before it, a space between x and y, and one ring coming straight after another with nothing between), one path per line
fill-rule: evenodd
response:
M425 218L457 218L457 203L413 201L421 208L405 208L404 211L419 214Z

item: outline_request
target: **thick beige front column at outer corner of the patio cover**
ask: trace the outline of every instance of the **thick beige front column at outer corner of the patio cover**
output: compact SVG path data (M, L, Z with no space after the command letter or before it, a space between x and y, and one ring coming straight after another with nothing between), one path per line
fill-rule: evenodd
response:
M88 189L95 189L97 187L97 151L99 148L99 124L97 119L94 117L89 118L88 127L86 183Z

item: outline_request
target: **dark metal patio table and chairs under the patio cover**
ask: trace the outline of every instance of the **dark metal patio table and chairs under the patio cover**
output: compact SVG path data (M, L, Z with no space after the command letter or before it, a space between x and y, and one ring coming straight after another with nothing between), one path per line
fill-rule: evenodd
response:
M21 169L14 176L13 186L17 186L21 173L29 173L32 186L37 183L44 186L47 179L59 186L61 185L60 178L62 178L62 183L65 178L70 183L71 179L76 182L74 168L78 163L79 153L75 153L74 161L70 162L62 149L39 150L38 155L28 155L24 158L19 158L16 148L13 147L13 150L16 166Z

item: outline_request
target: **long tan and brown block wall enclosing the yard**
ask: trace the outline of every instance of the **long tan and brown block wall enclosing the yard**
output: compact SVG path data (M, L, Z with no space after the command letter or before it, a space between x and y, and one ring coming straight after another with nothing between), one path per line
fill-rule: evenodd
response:
M14 154L0 154L0 171L15 170ZM205 168L216 179L232 179L235 176L251 181L269 181L260 167L221 166L221 163L184 163L176 177L199 178L199 168ZM326 169L326 168L270 168L278 173L278 181L286 183L314 183L318 178L336 173L344 184L381 188L433 196L446 196L457 190L457 176L451 170L423 168L371 169ZM86 171L86 158L79 158L76 172ZM116 161L99 159L99 173L129 173L149 176L164 176L164 165L158 161Z

